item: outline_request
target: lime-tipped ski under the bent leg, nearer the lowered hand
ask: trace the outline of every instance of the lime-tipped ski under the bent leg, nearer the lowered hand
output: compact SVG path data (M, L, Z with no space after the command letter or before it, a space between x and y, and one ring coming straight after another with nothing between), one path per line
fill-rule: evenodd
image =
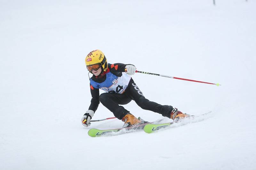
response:
M120 134L129 133L129 132L133 132L133 131L137 131L137 130L142 130L145 125L152 124L152 123L153 122L146 122L146 123L142 123L142 124L136 124L131 127L118 128L118 129L100 130L100 129L92 128L88 131L88 135L91 137L120 135Z

